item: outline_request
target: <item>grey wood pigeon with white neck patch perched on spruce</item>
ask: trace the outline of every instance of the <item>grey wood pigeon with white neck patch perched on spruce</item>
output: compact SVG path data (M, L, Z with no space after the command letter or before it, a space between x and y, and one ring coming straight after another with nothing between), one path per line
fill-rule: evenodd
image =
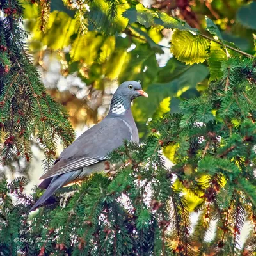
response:
M39 187L46 191L30 211L43 204L62 186L104 170L106 155L123 145L124 140L139 142L138 129L131 113L131 102L139 96L148 97L148 94L136 81L127 81L118 87L108 115L65 148L54 166L40 177L45 180Z

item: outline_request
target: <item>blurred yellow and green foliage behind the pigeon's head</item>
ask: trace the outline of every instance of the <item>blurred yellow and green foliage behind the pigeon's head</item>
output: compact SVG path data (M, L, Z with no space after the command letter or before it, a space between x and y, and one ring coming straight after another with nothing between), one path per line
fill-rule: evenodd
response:
M201 63L185 65L170 53L171 17L204 31L207 15L223 40L255 52L256 3L250 1L32 0L23 6L34 63L48 92L66 106L74 127L99 122L111 93L123 81L140 80L150 96L132 106L141 137L147 135L148 118L179 111L180 100L197 97L207 88L210 76L204 57ZM158 10L161 19L156 18ZM174 54L180 49L172 46Z

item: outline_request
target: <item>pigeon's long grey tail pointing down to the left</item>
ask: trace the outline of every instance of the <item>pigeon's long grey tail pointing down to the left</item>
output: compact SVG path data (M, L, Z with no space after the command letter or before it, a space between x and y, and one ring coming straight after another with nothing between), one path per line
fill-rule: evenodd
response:
M35 205L29 210L29 212L35 210L39 205L43 204L54 192L56 192L59 188L67 184L70 177L72 177L73 172L64 173L53 177L51 183L48 188L45 190L45 193L38 199Z

